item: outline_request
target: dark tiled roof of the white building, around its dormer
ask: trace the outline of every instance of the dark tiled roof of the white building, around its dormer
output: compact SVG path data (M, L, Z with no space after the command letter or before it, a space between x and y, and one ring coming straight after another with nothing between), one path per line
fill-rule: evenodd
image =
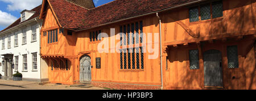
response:
M8 26L7 28L5 28L4 30L0 31L0 32L3 32L3 31L6 31L6 30L9 30L10 28L13 28L15 26L18 26L19 24L22 24L24 22L27 22L28 20L31 20L31 19L34 19L36 17L38 17L40 15L40 10L42 8L42 5L39 5L38 7L35 7L34 9L32 9L31 11L35 11L35 14L32 15L30 18L28 18L27 20L23 21L23 22L20 22L20 18L17 19L13 24L11 24L10 26Z

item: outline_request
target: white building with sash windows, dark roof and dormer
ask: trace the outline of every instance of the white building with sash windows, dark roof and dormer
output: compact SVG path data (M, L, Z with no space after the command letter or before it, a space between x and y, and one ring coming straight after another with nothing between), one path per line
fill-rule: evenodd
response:
M45 63L40 57L41 8L40 5L32 10L23 10L18 20L0 32L2 79L12 79L13 74L19 71L23 80L48 81L47 69L40 68Z

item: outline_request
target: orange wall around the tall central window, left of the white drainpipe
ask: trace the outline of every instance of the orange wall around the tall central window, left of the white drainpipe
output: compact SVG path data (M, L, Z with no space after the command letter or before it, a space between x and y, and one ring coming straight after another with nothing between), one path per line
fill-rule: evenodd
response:
M109 26L104 26L100 28L95 28L92 30L86 30L81 32L76 32L77 37L75 54L80 58L83 54L87 53L92 59L92 81L100 82L118 82L118 83L135 83L144 85L160 85L160 60L159 57L153 60L148 60L148 54L144 53L144 69L143 70L121 70L120 69L120 55L119 53L99 53L97 50L98 44L101 41L90 42L89 32L98 31L108 33L110 36L110 28L115 28L116 38L119 33L119 26L143 21L143 32L144 33L159 33L158 19L149 16L148 18L138 18L135 20L129 20L126 22L121 22L118 24L112 24ZM139 31L140 32L140 31ZM110 46L110 37L109 46ZM104 40L103 38L102 40ZM154 37L152 37L154 43ZM117 44L119 40L115 40ZM115 47L110 47L110 49ZM101 69L96 69L96 57L101 57ZM79 59L76 60L76 64L79 64ZM78 66L79 67L79 66ZM79 71L79 68L77 68ZM79 79L79 73L76 73L76 79Z

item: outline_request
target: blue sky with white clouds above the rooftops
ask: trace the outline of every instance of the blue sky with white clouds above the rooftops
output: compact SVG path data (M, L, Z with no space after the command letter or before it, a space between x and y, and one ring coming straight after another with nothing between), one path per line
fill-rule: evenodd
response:
M96 7L114 0L93 0ZM0 31L20 18L20 11L31 10L40 5L42 0L0 0Z

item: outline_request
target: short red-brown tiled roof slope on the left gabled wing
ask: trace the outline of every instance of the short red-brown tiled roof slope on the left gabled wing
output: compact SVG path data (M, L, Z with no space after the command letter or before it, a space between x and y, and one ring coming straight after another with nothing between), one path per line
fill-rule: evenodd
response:
M65 0L49 0L53 11L56 14L61 26L76 29L80 26L81 20L85 19L88 9L77 6Z

